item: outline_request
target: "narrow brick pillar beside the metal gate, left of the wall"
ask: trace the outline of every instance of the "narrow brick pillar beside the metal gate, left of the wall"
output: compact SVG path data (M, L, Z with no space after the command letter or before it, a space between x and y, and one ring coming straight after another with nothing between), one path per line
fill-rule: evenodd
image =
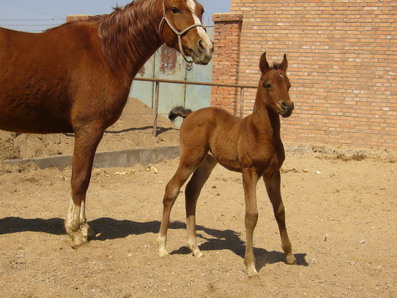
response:
M239 14L215 14L212 81L214 83L237 84L239 81L240 36L242 16ZM231 113L237 112L237 93L233 87L213 87L212 106L221 106Z

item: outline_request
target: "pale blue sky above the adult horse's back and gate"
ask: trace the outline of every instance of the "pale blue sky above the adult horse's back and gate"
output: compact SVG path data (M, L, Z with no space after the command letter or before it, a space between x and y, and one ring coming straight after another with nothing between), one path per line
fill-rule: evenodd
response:
M65 22L70 14L107 14L112 7L132 0L0 0L0 27L40 32ZM231 0L198 0L205 9L203 22L212 24L212 14L230 11Z

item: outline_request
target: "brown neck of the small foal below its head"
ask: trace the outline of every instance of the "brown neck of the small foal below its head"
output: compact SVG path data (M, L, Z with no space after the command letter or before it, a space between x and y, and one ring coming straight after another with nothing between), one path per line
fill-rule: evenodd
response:
M280 116L264 104L263 91L256 94L252 112L252 122L255 129L266 138L280 139Z

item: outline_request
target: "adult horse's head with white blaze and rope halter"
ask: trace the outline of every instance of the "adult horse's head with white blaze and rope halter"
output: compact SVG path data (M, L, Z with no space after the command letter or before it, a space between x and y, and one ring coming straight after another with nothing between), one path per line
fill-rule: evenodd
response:
M186 61L186 56L190 56L194 63L208 64L214 45L201 23L203 6L196 0L160 0L158 3L163 14L159 29L164 43L181 52Z

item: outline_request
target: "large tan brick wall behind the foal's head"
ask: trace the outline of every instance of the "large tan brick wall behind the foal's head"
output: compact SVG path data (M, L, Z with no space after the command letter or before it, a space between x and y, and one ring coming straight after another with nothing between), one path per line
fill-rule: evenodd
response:
M296 109L285 142L397 148L397 1L232 0L232 14L243 15L233 80L256 84L263 51L288 55ZM215 53L217 67L227 54ZM254 98L247 90L245 114Z

